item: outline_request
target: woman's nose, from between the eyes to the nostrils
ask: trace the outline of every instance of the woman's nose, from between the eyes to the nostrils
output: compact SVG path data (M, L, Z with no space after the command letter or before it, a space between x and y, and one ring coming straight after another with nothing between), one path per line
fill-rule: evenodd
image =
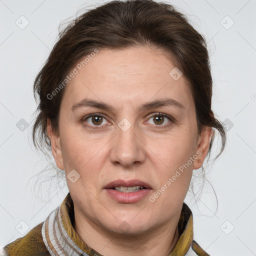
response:
M111 139L110 161L125 167L143 163L145 144L142 142L139 131L135 131L133 126L126 130L120 125L116 127L115 132L115 136Z

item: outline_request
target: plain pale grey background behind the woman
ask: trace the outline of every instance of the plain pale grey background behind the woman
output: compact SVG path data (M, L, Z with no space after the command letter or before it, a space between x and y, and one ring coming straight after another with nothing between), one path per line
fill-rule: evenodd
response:
M226 149L207 169L210 183L197 203L191 193L185 199L193 212L194 239L210 255L256 255L256 0L165 2L187 14L206 37L212 107L229 125ZM47 162L31 143L32 83L56 42L60 21L100 3L0 0L0 248L45 220L67 193L64 182L50 179L52 170L40 175L44 182L34 182ZM194 183L197 189L200 182Z

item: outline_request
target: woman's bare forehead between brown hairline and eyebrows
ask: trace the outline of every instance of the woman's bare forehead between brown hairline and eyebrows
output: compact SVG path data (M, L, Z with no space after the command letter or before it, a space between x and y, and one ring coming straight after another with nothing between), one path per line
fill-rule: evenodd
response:
M136 104L167 95L187 105L191 101L188 81L184 75L173 79L173 68L166 52L153 47L102 49L77 69L62 102L73 105L90 97L110 104Z

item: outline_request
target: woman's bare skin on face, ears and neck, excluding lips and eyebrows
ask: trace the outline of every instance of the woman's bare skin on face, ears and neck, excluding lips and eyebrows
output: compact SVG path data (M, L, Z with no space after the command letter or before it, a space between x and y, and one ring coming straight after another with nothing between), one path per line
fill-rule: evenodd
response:
M206 126L198 134L189 81L184 75L174 80L169 75L174 67L166 52L153 47L101 49L65 87L59 134L52 132L48 121L58 168L66 175L72 169L80 175L74 183L66 178L74 203L74 228L88 246L105 256L131 252L168 255L179 237L182 203L193 169L206 157L212 128ZM94 107L72 111L71 107L84 98L107 103L113 111ZM138 110L143 103L164 98L184 107ZM95 117L86 119L91 113L103 115L100 124ZM123 118L131 124L126 131L118 127ZM148 197L197 151L200 156L151 202ZM138 202L120 203L103 189L116 179L139 179L152 189ZM129 226L125 232L119 228L123 221Z

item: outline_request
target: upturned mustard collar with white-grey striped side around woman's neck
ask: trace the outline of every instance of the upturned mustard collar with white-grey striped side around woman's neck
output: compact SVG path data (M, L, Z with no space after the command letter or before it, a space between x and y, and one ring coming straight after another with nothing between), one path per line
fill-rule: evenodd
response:
M73 227L73 201L68 193L60 207L52 211L42 225L42 237L51 256L87 255L102 256L86 245ZM178 221L179 238L168 256L185 255L193 240L193 217L189 207L183 203ZM68 253L68 254L66 254Z

